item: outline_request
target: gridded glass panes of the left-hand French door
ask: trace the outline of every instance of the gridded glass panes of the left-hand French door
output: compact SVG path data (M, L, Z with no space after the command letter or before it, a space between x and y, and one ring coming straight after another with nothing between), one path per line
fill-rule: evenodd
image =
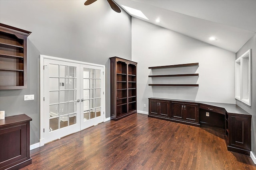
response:
M49 64L49 132L76 124L76 67Z

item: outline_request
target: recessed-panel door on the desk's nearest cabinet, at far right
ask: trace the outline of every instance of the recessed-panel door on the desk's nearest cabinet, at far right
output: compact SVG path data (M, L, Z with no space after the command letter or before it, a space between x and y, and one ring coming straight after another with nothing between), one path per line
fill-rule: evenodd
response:
M237 117L231 116L230 118L230 144L233 147L238 147L241 149L250 150L249 133L251 125L249 123L248 117Z

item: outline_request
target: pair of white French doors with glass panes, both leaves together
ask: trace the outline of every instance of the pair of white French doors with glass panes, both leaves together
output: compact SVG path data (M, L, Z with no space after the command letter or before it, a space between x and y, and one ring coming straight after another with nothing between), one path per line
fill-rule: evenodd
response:
M44 59L44 143L104 121L103 71L102 66Z

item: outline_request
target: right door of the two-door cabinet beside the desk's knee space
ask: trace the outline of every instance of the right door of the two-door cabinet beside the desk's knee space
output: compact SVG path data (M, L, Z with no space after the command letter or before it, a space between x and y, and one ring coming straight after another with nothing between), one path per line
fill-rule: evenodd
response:
M184 105L184 120L198 122L198 105Z

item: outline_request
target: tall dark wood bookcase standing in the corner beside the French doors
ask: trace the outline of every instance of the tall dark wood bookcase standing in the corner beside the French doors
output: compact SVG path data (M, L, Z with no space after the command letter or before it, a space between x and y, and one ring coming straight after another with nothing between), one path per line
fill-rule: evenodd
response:
M119 120L137 113L137 63L119 57L110 58L110 114Z

